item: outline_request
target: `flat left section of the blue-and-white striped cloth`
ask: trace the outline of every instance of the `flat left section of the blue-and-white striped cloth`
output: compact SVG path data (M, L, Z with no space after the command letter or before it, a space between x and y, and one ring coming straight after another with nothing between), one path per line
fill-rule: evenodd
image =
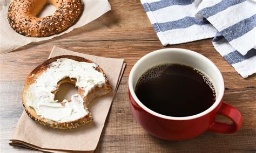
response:
M207 20L195 17L197 7L190 0L142 0L142 4L164 46L211 38L217 32Z

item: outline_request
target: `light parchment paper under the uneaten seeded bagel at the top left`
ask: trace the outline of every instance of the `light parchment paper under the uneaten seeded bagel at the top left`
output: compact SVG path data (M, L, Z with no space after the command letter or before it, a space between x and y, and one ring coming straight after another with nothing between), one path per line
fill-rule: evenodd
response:
M102 16L107 11L111 10L111 6L107 0L82 0L83 12L76 24L69 27L69 29L62 33L55 34L50 37L25 37L15 32L7 19L7 11L10 0L0 0L0 54L11 52L19 47L22 47L31 42L38 42L43 40L52 39L57 36L61 36L64 33L68 33L75 28L84 26L92 20ZM42 16L49 15L52 12L53 7L46 7L41 13Z

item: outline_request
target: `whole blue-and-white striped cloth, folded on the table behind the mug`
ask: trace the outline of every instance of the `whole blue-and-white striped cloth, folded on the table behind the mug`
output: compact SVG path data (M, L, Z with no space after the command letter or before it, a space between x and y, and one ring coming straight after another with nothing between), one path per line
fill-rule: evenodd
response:
M213 38L214 48L244 78L256 73L256 2L141 0L161 43Z

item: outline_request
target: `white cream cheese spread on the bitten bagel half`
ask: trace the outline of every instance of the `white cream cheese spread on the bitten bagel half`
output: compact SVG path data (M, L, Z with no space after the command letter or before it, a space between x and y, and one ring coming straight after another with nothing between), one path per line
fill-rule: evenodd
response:
M103 73L95 68L98 65L89 62L79 62L72 59L58 59L49 64L36 81L30 85L26 94L28 106L35 109L37 115L56 122L68 122L80 119L87 115L83 98L95 87L106 84ZM55 100L58 82L64 78L76 79L76 87L84 91L84 95L75 94L71 101Z

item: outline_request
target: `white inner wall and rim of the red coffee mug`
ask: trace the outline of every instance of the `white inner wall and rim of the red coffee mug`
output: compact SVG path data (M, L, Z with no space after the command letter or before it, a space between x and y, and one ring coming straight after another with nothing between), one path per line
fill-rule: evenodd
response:
M143 105L143 103L139 101L139 99L137 98L134 92L134 88L136 86L136 83L139 77L145 71L147 71L147 69L153 66L157 66L165 63L183 64L186 66L197 68L201 72L205 73L205 75L208 78L210 78L215 88L216 101L213 103L213 105L202 113L192 115L192 116L186 116L186 117L173 117L173 116L162 115L154 112L153 110ZM195 119L197 117L203 116L211 112L215 107L217 107L221 99L223 98L225 87L224 87L223 77L218 67L215 66L210 59L204 57L204 55L201 55L197 52L193 52L190 50L181 49L181 48L165 48L162 50L157 50L149 54L146 54L144 57L140 58L136 62L136 64L132 67L129 75L129 89L134 100L138 103L140 107L142 107L147 112L164 119L191 120L191 119Z

